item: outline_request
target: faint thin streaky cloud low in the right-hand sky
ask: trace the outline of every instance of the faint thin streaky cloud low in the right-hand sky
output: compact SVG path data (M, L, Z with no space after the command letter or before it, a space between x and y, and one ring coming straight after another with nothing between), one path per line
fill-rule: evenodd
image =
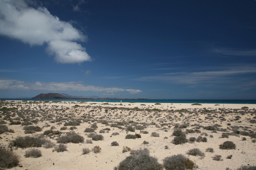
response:
M135 80L146 82L163 82L170 84L185 84L187 86L229 85L233 88L253 88L256 66L240 65L218 70L170 72L155 76L142 76ZM249 78L245 78L249 76Z

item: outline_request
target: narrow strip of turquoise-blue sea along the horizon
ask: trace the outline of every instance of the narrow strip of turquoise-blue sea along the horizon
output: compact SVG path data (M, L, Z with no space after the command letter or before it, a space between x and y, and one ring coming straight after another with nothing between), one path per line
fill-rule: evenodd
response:
M77 101L80 102L84 99L5 99L5 100L27 100L27 101L34 101L34 100L48 100L48 101ZM219 104L256 104L256 100L174 100L174 99L162 99L162 100L85 100L90 102L136 102L136 103L219 103Z

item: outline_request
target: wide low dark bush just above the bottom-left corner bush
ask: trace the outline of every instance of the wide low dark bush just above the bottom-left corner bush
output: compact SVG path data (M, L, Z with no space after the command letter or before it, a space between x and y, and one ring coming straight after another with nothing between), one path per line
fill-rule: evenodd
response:
M10 142L10 146L16 146L20 148L41 147L44 142L45 141L39 137L17 137L15 140Z

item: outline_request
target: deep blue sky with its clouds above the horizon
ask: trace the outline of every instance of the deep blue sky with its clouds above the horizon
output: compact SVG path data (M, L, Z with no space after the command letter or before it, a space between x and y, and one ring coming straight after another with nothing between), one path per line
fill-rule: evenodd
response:
M1 0L0 98L256 99L255 0Z

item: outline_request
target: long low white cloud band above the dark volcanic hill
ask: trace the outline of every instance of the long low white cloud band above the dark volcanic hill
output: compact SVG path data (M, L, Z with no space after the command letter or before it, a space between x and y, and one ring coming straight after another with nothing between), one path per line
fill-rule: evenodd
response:
M0 79L0 90L19 90L19 91L94 91L114 93L120 91L127 91L130 94L142 92L136 89L124 89L117 87L100 87L100 86L86 86L83 82L48 82L48 83L25 83L20 80Z

